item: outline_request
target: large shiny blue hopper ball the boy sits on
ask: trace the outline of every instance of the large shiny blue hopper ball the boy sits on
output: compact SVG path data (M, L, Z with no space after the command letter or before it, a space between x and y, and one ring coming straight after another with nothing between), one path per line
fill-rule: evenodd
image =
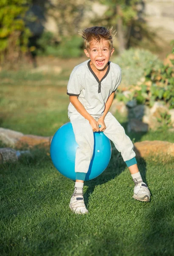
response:
M51 159L56 169L67 178L76 180L76 143L70 122L59 128L51 141ZM111 158L111 143L103 132L94 132L94 152L85 180L92 180L107 168ZM83 170L82 170L83 171Z

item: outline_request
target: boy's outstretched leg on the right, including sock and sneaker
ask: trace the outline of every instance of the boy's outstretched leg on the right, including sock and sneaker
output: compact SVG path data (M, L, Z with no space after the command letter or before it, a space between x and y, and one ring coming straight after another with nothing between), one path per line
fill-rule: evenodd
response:
M140 172L138 170L137 161L135 159L135 152L133 151L133 143L130 138L125 134L124 128L115 119L110 112L104 119L106 124L106 130L104 134L112 140L115 148L123 157L129 171L132 175L132 179L135 183L133 198L139 201L150 201L150 192L147 185L143 182Z

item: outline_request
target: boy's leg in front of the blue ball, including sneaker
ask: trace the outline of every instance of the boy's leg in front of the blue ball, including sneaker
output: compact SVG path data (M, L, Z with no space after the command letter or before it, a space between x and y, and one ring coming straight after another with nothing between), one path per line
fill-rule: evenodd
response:
M76 183L70 200L70 209L75 213L84 214L88 210L84 205L83 186L93 157L94 135L89 121L83 116L72 116L70 121L73 126L76 143L79 145L75 160Z

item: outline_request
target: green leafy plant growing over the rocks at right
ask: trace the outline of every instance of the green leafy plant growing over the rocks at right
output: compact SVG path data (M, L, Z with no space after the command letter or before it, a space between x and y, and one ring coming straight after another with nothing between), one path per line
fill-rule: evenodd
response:
M129 87L129 92L129 95L125 96L125 93L120 91L118 100L128 102L135 99L138 104L146 104L150 107L155 101L161 101L168 108L174 108L174 67L160 64L157 68L151 64L146 67L144 78L135 86ZM168 116L161 117L165 120L169 119Z

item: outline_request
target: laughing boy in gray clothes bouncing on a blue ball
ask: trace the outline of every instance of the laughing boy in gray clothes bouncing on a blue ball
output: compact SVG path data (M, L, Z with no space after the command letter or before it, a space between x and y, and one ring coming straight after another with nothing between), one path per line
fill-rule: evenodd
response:
M76 142L76 182L70 199L70 209L79 214L88 213L84 204L83 185L93 156L93 132L103 131L112 140L123 157L135 183L133 198L150 201L150 192L138 170L133 144L123 127L109 111L115 90L121 83L121 68L109 61L114 52L113 31L105 27L90 27L81 32L84 52L90 60L76 66L68 81L70 97L68 117ZM101 125L101 128L99 128Z

